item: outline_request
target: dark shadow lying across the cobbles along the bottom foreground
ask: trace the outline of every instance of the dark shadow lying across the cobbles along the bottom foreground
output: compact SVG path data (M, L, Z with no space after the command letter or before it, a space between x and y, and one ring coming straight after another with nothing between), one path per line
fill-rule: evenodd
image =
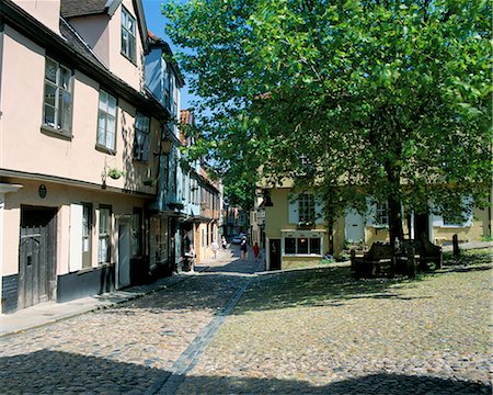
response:
M170 375L138 364L48 350L0 358L0 364L2 394L150 394L159 391ZM324 386L296 380L236 376L187 376L184 385L187 394L472 395L492 391L491 385L480 383L385 373Z

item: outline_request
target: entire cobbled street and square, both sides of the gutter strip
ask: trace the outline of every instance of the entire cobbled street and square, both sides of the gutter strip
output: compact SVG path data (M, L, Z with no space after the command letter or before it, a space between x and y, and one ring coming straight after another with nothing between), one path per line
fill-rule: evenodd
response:
M222 252L163 291L1 338L0 392L491 394L485 257L355 281L347 266L252 275Z

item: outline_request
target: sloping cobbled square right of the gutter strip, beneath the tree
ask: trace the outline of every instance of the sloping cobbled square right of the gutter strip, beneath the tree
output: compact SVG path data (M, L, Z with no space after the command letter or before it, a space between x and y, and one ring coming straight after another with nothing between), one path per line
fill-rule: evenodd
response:
M491 257L413 282L262 275L179 394L491 394Z

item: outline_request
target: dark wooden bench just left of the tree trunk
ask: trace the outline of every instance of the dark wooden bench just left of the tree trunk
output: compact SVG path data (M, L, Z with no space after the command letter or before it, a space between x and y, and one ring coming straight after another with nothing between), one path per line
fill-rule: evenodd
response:
M363 257L356 257L356 251L351 251L351 269L356 279L372 278L387 274L395 275L395 257L390 244L374 242L371 248Z

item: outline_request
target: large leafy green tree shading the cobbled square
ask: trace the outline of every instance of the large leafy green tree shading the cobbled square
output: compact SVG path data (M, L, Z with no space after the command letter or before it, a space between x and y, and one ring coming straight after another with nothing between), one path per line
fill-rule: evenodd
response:
M163 11L225 170L295 178L325 196L330 221L368 196L388 201L391 240L403 237L402 206L488 204L489 1L190 0Z

